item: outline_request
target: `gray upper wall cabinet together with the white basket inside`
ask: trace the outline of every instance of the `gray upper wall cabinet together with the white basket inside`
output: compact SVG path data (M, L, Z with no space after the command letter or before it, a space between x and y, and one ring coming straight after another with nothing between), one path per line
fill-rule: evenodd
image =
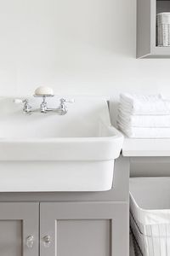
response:
M156 15L168 12L170 0L137 0L137 58L170 58L168 14L159 15L156 22ZM169 46L164 44L168 40Z

